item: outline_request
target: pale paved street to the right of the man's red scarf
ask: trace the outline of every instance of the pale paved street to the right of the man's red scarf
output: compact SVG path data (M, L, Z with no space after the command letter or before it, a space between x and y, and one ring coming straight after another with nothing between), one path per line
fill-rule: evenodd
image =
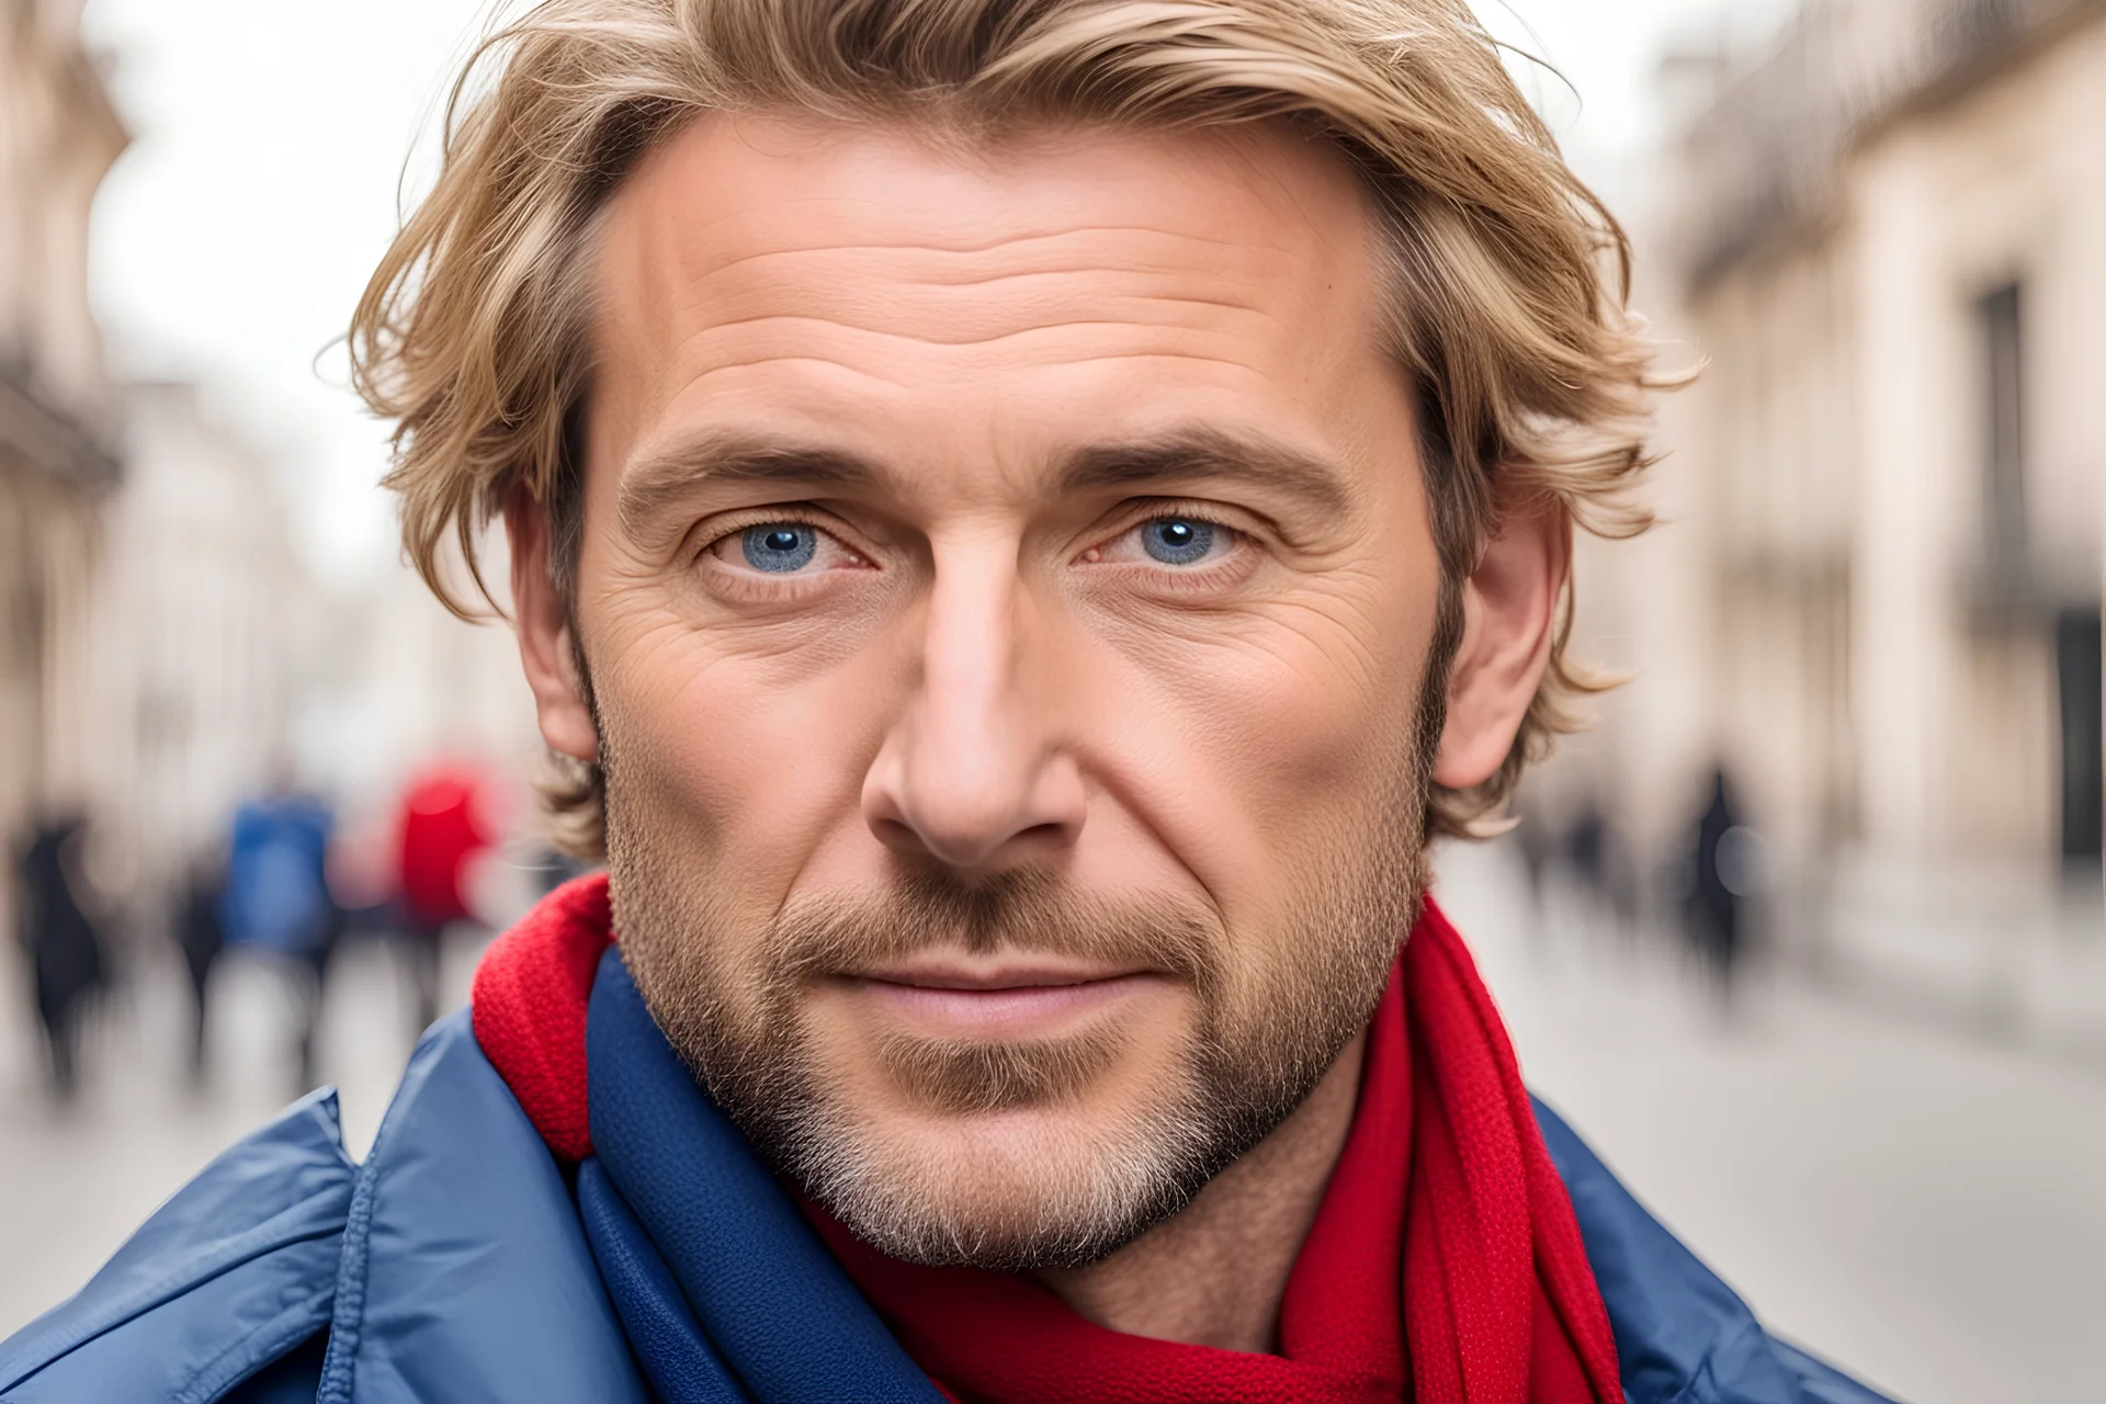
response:
M1529 1084L1771 1328L1914 1404L2106 1398L2106 1067L1761 983L1721 1027L1523 892L1443 857Z

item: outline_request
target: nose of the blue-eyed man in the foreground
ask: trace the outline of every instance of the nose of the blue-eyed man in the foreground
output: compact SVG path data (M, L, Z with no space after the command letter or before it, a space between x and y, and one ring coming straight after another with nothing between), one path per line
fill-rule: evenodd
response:
M939 560L914 690L863 779L863 819L882 844L994 871L1076 842L1087 794L1040 623L1013 551Z

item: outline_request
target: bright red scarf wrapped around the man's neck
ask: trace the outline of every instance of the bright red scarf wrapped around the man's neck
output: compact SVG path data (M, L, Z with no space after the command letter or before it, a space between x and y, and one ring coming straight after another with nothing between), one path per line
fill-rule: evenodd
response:
M476 1040L564 1160L592 1154L585 1000L609 939L607 880L583 878L476 970ZM1280 1303L1278 1356L1120 1335L1024 1278L916 1267L832 1221L819 1229L908 1353L960 1400L1624 1398L1506 1027L1432 899L1375 1010L1352 1132Z

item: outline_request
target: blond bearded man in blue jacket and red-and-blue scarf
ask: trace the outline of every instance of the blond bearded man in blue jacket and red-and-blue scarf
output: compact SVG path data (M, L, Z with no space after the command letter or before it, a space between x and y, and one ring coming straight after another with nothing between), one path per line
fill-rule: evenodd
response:
M354 326L607 876L8 1400L1872 1400L1531 1107L1426 842L1636 528L1449 0L554 0Z

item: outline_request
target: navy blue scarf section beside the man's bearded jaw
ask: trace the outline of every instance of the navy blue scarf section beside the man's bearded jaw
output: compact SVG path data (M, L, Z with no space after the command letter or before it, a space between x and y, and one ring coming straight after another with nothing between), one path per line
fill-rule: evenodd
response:
M609 947L585 1019L594 1156L577 1208L668 1404L941 1404L746 1137L689 1076Z

